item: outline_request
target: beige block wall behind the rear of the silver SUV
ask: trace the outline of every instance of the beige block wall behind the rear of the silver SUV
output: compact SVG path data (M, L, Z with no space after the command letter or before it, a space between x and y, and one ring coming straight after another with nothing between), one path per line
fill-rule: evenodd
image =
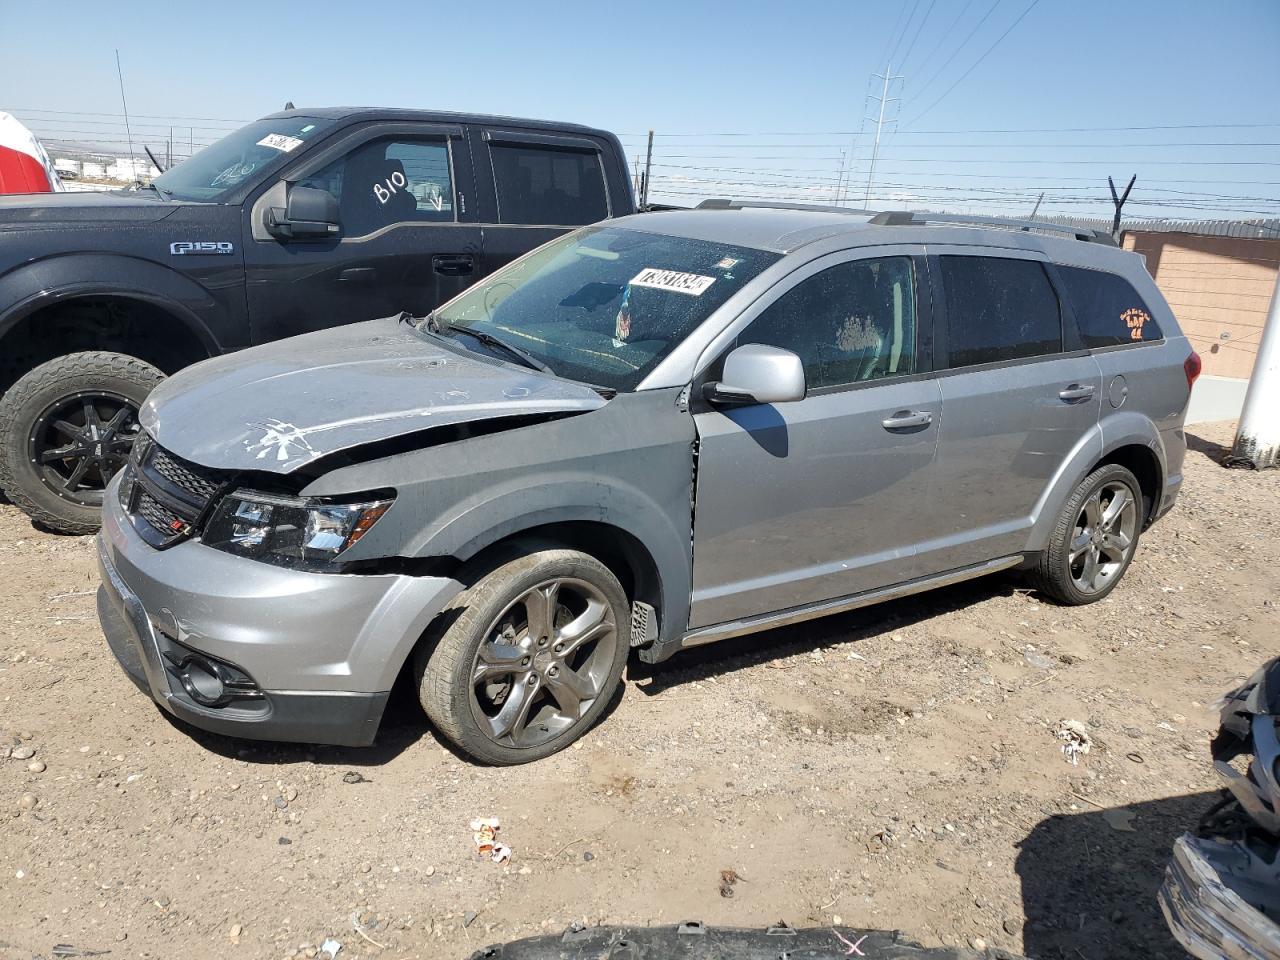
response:
M1280 241L1126 230L1124 247L1146 255L1204 372L1247 378L1280 268Z

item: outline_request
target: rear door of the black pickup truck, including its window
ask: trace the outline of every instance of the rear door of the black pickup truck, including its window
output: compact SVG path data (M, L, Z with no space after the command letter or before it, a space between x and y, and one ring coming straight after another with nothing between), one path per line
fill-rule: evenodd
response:
M483 273L575 227L613 216L607 141L498 127L472 127L470 137L484 224Z

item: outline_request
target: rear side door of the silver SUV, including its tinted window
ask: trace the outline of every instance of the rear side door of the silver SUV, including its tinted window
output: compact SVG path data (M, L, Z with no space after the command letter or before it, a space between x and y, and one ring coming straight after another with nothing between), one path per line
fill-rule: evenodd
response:
M928 575L1021 552L1071 452L1094 433L1102 375L1034 252L931 247L942 428Z

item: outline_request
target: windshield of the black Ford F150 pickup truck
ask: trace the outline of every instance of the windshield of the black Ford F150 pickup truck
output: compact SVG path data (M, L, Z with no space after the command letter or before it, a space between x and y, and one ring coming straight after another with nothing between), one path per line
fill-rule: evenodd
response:
M170 168L154 183L174 200L216 201L248 177L283 164L289 154L329 127L333 120L316 116L255 120Z

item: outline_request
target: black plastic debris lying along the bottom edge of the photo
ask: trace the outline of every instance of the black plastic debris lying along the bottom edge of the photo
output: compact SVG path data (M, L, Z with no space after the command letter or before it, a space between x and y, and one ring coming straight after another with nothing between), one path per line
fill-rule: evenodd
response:
M707 927L571 927L477 950L471 960L1023 960L1004 950L923 947L897 931L852 927L768 929Z

